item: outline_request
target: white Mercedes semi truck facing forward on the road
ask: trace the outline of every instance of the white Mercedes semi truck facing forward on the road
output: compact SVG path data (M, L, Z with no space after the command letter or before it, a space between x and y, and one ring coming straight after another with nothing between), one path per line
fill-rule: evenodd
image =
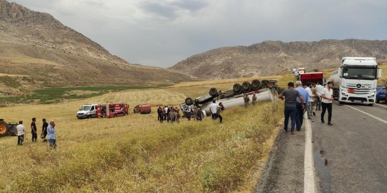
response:
M339 103L364 103L372 106L376 101L377 80L382 77L376 58L343 57L341 66L331 73L333 96Z

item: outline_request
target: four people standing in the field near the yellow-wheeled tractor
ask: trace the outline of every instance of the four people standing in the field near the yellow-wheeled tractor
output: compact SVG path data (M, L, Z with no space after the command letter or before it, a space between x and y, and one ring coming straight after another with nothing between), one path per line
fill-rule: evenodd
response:
M43 142L49 142L50 147L55 148L57 146L56 143L56 134L55 134L55 122L54 120L50 120L50 124L46 122L46 119L42 119L42 132L40 138L43 139ZM26 127L23 125L23 121L19 121L19 125L16 126L17 130L17 145L22 146L25 136L26 136ZM32 142L36 142L38 140L38 130L36 128L36 118L32 118L31 122L31 135ZM46 139L46 136L47 139Z

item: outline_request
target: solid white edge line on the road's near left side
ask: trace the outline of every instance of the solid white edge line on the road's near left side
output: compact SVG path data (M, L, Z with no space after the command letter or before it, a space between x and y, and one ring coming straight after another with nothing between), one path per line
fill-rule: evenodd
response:
M305 119L304 193L315 193L312 125Z

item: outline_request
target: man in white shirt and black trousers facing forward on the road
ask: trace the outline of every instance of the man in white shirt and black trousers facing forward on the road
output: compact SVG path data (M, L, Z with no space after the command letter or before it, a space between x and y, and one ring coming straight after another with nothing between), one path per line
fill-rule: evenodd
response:
M333 83L328 82L327 87L324 88L321 91L321 106L322 106L322 112L321 112L321 122L325 123L324 121L324 115L325 111L328 109L328 125L332 126L330 123L332 119L332 101L333 99L333 90L332 90Z

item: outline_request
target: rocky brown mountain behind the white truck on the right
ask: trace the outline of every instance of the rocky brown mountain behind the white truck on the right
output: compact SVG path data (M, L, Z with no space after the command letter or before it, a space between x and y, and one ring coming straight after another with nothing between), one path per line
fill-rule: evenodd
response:
M170 69L204 79L277 74L293 68L336 68L343 56L387 59L387 41L360 39L315 42L264 41L251 46L221 47L190 56Z

